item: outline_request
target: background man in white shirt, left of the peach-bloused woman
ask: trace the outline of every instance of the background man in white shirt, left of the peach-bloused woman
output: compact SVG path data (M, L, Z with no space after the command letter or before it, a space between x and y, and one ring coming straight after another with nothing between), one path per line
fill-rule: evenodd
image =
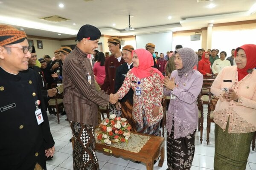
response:
M212 74L217 76L224 67L230 66L230 61L226 60L227 53L225 51L221 51L220 59L217 59L212 64Z

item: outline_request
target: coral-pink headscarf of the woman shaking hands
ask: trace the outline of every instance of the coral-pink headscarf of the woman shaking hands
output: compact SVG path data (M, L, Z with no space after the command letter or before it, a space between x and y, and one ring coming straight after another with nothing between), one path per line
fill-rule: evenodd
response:
M152 68L151 67L151 66L154 65L154 60L153 60L152 54L148 50L140 48L140 49L137 49L137 50L133 50L131 52L131 55L133 56L134 53L136 53L138 58L139 58L139 66L138 67L133 67L131 69L131 72L136 77L139 77L140 79L143 79L145 77L149 77L151 75L150 72L152 70L154 73L159 74L161 79L164 78L163 74L160 71L158 71L157 68Z

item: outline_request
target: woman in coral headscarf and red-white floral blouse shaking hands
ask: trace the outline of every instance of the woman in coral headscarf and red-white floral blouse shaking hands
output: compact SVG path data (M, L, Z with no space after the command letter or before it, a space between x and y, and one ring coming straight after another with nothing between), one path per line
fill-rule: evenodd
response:
M157 68L151 67L154 61L149 51L137 49L132 51L132 56L134 67L127 72L121 88L115 95L122 99L132 88L132 115L137 122L137 132L160 136L160 120L163 118L163 74Z

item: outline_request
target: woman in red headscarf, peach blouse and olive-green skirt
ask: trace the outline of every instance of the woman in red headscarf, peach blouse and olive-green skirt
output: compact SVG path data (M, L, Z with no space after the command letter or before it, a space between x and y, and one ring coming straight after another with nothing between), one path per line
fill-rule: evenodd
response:
M246 168L256 131L255 54L254 44L236 48L236 66L223 68L212 83L212 94L219 96L214 111L215 170Z

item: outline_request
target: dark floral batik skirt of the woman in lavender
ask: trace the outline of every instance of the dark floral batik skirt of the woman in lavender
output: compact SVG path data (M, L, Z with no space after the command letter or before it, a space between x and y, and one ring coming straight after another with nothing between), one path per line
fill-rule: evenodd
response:
M174 139L174 126L171 133L167 132L167 170L190 170L195 153L195 131L178 139Z

